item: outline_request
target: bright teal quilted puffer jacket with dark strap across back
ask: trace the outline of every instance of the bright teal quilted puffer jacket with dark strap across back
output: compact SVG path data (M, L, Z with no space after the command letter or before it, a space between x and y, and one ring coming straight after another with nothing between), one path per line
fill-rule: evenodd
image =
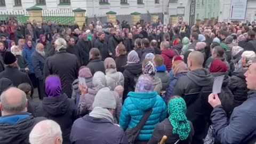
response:
M153 108L153 111L137 138L138 141L148 141L156 124L167 117L166 105L163 99L157 95L157 92L129 92L119 118L120 126L124 130L135 127L140 122L145 111L151 108Z

